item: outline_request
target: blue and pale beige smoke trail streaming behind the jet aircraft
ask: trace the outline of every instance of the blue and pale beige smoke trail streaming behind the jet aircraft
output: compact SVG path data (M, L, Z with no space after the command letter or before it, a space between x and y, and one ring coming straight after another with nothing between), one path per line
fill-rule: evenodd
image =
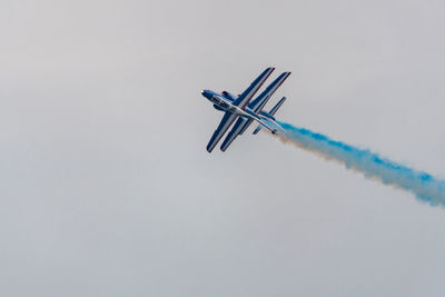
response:
M421 201L432 206L445 206L445 181L431 175L397 165L382 158L369 150L358 149L340 141L295 127L287 122L278 122L285 130L278 133L284 142L291 141L299 148L315 152L328 160L336 160L347 169L360 171L366 178L382 181L413 192Z

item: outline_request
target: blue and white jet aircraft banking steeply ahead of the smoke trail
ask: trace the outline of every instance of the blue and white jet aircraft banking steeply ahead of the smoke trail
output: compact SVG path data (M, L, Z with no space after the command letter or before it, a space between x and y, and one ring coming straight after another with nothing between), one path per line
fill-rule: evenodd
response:
M264 111L263 108L278 87L287 79L290 72L283 72L256 99L251 100L274 70L275 68L271 67L264 70L263 73L259 75L259 77L255 79L254 82L251 82L251 85L239 96L234 96L227 91L218 93L211 90L201 90L201 95L214 103L215 109L225 112L218 128L215 130L214 136L207 145L208 152L211 152L235 120L237 121L234 125L234 128L231 128L220 147L222 151L225 151L235 138L238 135L241 135L254 120L259 123L254 133L257 133L261 127L265 127L273 133L284 131L281 126L276 122L274 115L286 98L283 97L269 112Z

